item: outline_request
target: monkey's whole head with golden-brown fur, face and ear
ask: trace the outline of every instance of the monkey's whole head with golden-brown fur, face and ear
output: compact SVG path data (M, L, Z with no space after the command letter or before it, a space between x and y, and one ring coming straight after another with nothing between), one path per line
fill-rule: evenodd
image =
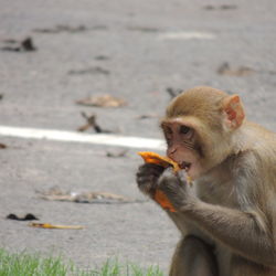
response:
M232 152L232 135L243 124L237 95L195 87L176 97L161 123L167 155L197 179Z

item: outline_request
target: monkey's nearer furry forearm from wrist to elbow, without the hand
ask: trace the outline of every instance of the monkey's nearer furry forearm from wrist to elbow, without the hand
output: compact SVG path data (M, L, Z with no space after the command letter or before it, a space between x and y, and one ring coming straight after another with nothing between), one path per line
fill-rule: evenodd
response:
M276 266L273 237L259 214L212 205L202 201L180 208L188 219L237 254Z

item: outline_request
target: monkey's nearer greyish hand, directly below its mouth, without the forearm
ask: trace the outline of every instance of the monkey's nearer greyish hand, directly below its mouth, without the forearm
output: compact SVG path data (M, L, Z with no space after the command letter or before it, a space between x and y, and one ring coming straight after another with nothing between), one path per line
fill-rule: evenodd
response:
M158 180L157 189L167 195L177 211L181 211L197 199L183 170L174 173L171 168L168 168Z

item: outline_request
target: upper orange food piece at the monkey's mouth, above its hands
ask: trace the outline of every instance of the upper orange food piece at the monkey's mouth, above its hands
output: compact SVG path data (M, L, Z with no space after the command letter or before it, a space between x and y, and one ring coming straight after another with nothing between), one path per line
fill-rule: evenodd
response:
M141 156L146 163L156 163L162 166L163 168L171 166L174 172L180 170L178 163L171 160L169 157L162 157L152 151L140 151L138 155Z

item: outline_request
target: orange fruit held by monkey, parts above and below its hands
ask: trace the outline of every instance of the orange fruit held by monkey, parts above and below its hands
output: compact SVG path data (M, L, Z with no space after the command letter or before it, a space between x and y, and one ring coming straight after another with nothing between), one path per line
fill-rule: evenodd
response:
M158 153L151 152L151 151L140 151L140 152L138 152L138 155L141 156L141 158L145 160L146 163L156 163L156 164L159 164L163 168L172 167L174 172L180 171L180 167L178 166L178 163L168 157L162 157L162 156L159 156ZM168 200L167 195L162 191L156 190L156 192L153 194L153 199L163 209L166 209L170 212L177 212L176 209L170 203L170 201Z

